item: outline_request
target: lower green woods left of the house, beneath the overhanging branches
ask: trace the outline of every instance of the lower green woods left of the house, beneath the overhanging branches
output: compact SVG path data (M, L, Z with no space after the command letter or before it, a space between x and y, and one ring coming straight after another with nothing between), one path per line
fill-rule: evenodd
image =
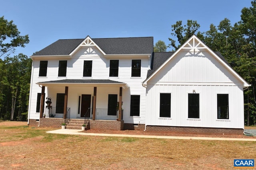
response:
M31 64L32 60L23 54L4 60L3 72L8 73L0 82L4 94L0 114L4 119L21 120L22 113L28 111Z

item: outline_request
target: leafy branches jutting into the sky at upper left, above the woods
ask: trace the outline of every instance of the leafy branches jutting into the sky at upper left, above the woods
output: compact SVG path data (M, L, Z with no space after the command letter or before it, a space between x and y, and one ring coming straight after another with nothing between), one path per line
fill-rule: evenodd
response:
M15 47L25 47L29 43L28 35L21 36L13 21L0 17L0 57L10 55Z

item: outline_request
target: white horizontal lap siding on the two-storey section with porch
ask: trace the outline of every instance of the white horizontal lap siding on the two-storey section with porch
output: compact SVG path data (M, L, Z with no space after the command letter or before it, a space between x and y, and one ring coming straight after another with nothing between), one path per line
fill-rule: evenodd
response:
M141 59L141 77L131 77L132 59ZM67 60L66 77L58 77L58 64L60 60ZM92 77L83 77L84 61L92 61ZM119 60L118 77L109 77L110 60ZM39 77L40 61L48 61L47 76ZM39 119L39 113L36 113L37 93L41 93L42 88L37 82L62 79L109 79L126 83L129 88L123 89L124 123L145 123L146 114L146 88L142 82L146 79L148 72L148 57L104 57L96 47L81 47L71 57L47 57L33 60L31 99L30 99L30 119ZM96 85L97 86L97 85ZM91 94L93 96L93 87L90 85L69 85L68 106L70 107L70 117L80 117L78 114L78 98L82 94ZM45 88L46 97L52 98L52 106L56 106L56 94L65 93L64 86L48 86ZM118 94L119 86L99 85L97 86L96 108L108 108L108 94ZM140 95L140 116L130 116L130 95ZM92 101L92 100L91 100ZM92 102L91 102L92 103ZM92 104L91 104L92 105ZM45 104L46 106L46 104Z

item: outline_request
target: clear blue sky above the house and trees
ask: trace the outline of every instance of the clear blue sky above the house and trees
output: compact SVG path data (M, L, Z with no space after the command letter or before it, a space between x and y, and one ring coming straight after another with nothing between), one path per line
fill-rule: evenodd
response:
M29 35L27 56L58 39L154 37L169 44L178 20L196 20L201 32L228 18L240 21L251 0L0 0L0 16L13 20L21 35ZM170 49L169 49L170 50Z

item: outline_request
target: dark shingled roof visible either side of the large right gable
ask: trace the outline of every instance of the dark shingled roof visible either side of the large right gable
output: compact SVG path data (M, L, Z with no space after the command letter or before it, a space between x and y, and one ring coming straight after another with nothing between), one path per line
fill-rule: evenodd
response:
M148 70L147 78L156 71L158 67L160 67L169 57L173 55L174 52L154 52L152 55L152 62L151 62L151 70ZM222 56L219 51L214 51L216 55L220 57L225 63L229 66L230 64L226 59Z

